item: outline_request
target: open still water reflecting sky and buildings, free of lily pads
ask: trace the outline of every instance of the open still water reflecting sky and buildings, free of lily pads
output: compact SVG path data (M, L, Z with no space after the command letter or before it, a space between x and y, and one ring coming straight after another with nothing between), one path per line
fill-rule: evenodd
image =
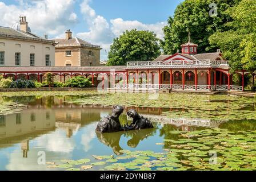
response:
M173 121L174 124L154 122L154 129L129 131L127 133L98 134L95 127L101 118L111 113L111 106L75 105L65 102L65 97L13 98L27 106L19 113L0 116L0 170L55 170L39 165L40 154L46 162L61 159L90 159L92 155L122 156L121 150L163 152L168 146L164 139L177 138L169 131L203 130L207 126L233 129L234 125L256 129L255 121L201 121L186 125L187 121ZM27 102L27 103L26 103ZM126 108L126 111L131 108ZM138 113L149 115L154 121L161 121L165 108L137 107ZM127 117L121 115L126 123ZM177 125L177 123L179 125ZM229 125L230 123L230 125ZM235 129L233 129L235 130ZM94 167L93 170L101 167ZM65 170L59 169L58 170Z

